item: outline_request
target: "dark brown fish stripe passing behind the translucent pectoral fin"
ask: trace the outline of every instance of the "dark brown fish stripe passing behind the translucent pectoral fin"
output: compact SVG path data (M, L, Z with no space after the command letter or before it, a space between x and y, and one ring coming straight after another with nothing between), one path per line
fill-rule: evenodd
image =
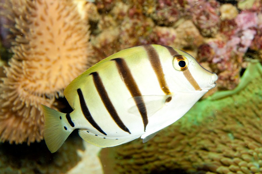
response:
M125 82L125 86L128 88L132 97L142 96L137 86L137 83L135 82L134 77L132 76L131 71L128 68L128 65L126 64L125 60L122 58L115 58L112 60L116 61L116 67L118 69L118 72L121 75L123 81ZM143 98L141 98L139 102L137 99L134 99L134 101L143 119L144 131L146 131L146 125L148 124L148 117L147 117L145 103L143 101Z

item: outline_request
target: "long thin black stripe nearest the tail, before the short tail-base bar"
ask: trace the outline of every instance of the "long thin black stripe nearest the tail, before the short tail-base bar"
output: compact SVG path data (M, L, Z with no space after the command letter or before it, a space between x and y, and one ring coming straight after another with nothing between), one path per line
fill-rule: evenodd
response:
M80 106L82 109L82 112L84 114L84 116L86 117L87 121L94 127L96 128L99 132L101 132L104 135L107 135L99 126L98 124L95 122L95 120L93 119L91 113L89 112L87 106L86 106L86 102L82 93L82 90L80 88L77 89L77 94L79 96L79 101L80 101Z

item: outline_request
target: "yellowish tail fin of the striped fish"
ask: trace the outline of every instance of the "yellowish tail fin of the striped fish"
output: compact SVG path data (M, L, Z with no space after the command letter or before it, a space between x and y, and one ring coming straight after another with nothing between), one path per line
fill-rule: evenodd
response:
M42 105L45 117L44 138L50 152L56 152L73 129L65 119L65 113L61 113Z

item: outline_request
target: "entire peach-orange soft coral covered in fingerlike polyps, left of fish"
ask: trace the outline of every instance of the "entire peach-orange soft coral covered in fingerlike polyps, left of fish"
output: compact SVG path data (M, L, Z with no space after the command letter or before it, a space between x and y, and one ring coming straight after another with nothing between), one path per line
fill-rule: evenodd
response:
M0 84L0 140L43 139L41 104L55 97L87 69L91 46L88 23L67 0L11 0L3 5L15 25L11 51ZM84 13L83 11L82 13Z

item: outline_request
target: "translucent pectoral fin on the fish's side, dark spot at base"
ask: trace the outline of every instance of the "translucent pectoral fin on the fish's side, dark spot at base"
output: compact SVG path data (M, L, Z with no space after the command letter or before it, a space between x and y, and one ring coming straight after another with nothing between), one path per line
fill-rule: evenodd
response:
M154 115L158 110L168 105L172 95L143 95L128 99L129 102L135 103L128 109L129 113L137 115L138 112L147 113L147 117Z

